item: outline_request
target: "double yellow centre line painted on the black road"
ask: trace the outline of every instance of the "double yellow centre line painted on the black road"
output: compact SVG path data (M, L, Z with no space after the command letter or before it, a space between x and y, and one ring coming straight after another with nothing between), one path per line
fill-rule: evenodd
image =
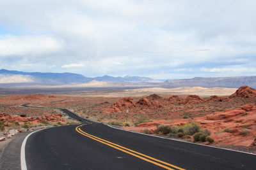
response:
M128 154L130 154L134 157L138 157L139 159L142 159L142 160L145 160L145 161L150 162L152 164L155 164L157 166L163 167L164 169L174 170L173 168L175 168L175 169L179 169L179 170L185 170L185 169L182 169L180 167L169 164L167 162L164 162L162 160L158 160L158 159L155 159L155 158L150 157L148 155L145 155L143 153L136 152L134 150L130 150L129 148L125 148L124 146L117 145L117 144L112 143L110 141L107 141L105 139L98 138L97 136L93 136L92 134L88 134L88 133L81 130L81 128L80 128L81 126L83 126L83 125L79 125L79 126L76 127L76 131L79 132L79 134L82 134L83 136L86 136L86 137L91 138L95 141L103 143L104 145L111 146L112 148L115 148L116 150L120 150L122 152L128 153Z

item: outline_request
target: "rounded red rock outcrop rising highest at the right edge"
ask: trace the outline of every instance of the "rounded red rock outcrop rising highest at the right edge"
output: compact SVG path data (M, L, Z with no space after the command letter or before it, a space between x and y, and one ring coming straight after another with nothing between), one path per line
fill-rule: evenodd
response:
M256 90L252 87L248 87L247 85L239 87L234 94L229 96L232 97L256 97Z

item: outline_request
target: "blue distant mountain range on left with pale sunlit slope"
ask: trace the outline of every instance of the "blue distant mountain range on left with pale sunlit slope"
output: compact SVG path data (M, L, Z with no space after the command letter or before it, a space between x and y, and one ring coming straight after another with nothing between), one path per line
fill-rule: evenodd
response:
M82 74L75 73L40 73L40 72L22 72L0 69L0 83L30 83L38 85L64 85L70 83L87 83L92 80L98 81L122 81L130 83L159 83L152 78L140 76L99 76L88 78Z

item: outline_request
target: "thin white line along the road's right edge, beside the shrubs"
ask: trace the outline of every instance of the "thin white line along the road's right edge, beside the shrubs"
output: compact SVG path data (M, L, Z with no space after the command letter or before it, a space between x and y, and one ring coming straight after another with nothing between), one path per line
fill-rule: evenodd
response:
M104 124L104 125L108 125L108 124ZM113 129L118 129L120 131L127 131L127 132L136 133L136 134L143 134L141 132L135 132L135 131L128 131L128 130L125 130L125 129L119 129L119 128L113 127L111 125L108 125L108 126L112 127ZM239 153L246 153L246 154L250 154L250 155L256 155L255 153L243 152L243 151L239 151L239 150L230 150L230 149L227 149L227 148L220 148L220 147L217 147L217 146L203 145L203 144L200 144L200 143L192 143L192 142L182 141L182 140L172 139L172 138L164 138L162 136L155 136L155 135L150 135L150 134L143 134L143 135L152 136L152 137L156 137L156 138L162 138L162 139L168 139L168 140L172 140L172 141L179 141L179 142L184 142L184 143L190 143L190 144L193 144L193 145L200 145L200 146L205 146L205 147L217 148L217 149L221 149L221 150L229 150L229 151L233 151L233 152L239 152Z

